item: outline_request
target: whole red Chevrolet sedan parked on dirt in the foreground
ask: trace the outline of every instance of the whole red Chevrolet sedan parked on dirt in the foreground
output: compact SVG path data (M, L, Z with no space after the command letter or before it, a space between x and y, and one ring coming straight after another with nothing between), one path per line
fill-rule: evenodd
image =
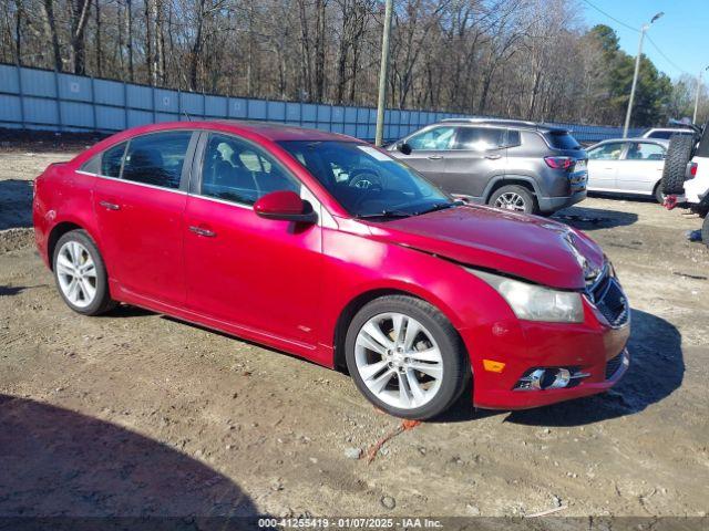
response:
M347 369L392 415L608 389L630 309L585 235L454 201L354 138L236 122L114 135L35 181L59 292L135 304ZM470 387L467 387L470 388Z

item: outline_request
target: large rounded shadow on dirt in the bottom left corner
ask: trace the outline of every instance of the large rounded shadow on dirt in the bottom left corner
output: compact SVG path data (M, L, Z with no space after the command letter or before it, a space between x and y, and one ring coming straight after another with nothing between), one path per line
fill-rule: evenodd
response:
M0 522L20 518L13 529L58 517L79 520L69 525L60 518L43 529L84 529L80 520L86 518L92 519L91 529L114 529L111 520L117 517L154 519L154 524L171 517L175 525L169 529L197 529L191 519L219 517L219 529L234 529L227 517L257 514L253 501L230 479L165 444L4 394L0 394ZM191 527L182 525L186 522ZM126 522L125 529L135 528Z

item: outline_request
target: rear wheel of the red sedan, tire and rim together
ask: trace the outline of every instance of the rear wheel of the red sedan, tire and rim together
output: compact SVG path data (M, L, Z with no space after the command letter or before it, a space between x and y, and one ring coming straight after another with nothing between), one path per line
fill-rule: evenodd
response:
M85 231L63 235L54 247L52 264L59 293L74 312L99 315L115 308L103 259Z

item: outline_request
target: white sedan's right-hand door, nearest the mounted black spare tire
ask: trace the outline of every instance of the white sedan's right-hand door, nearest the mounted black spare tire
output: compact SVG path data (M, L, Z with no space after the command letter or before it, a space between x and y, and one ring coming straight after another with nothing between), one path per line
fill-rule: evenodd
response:
M630 142L616 175L618 191L653 194L662 177L665 147L651 142Z

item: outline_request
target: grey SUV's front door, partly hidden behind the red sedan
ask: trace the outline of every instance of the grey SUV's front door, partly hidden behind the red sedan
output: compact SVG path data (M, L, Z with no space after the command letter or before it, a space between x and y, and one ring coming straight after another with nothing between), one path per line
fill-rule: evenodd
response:
M409 166L439 184L445 174L445 157L453 145L455 127L450 125L436 125L423 129L410 136L407 144L411 146L411 153L404 155L401 152L392 153Z

